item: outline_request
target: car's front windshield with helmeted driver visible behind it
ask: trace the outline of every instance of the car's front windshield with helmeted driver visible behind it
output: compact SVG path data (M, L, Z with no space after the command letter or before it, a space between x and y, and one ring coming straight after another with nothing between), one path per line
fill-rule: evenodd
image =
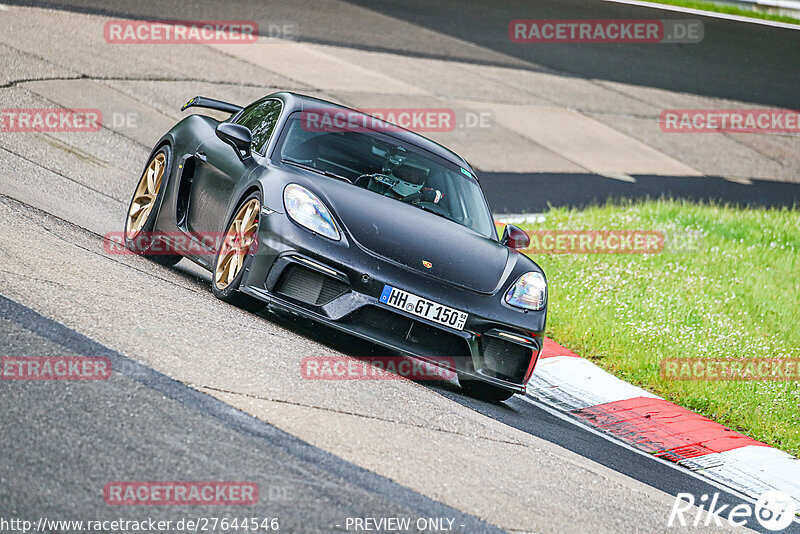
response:
M483 192L466 169L363 127L310 128L300 115L289 117L276 148L282 162L345 179L494 237Z

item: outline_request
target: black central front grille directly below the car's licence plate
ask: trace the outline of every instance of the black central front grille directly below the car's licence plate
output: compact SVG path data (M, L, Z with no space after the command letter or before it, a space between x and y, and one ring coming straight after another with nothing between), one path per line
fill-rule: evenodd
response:
M470 356L464 339L383 308L365 306L352 314L350 321L378 330L389 340L411 343L420 356Z

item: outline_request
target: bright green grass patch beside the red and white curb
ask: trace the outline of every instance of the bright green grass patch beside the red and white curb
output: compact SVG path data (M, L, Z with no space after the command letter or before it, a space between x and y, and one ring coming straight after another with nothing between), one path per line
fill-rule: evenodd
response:
M616 376L794 455L800 383L667 381L667 357L800 358L800 212L680 201L553 209L525 230L660 230L658 254L536 254L548 335Z

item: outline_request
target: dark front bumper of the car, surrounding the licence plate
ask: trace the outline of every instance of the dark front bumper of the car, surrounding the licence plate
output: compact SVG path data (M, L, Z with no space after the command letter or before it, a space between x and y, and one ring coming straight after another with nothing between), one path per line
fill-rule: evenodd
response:
M469 313L454 330L379 298L385 284ZM245 294L366 339L390 351L455 364L462 378L517 393L542 348L545 311L521 312L486 295L378 258L343 236L331 241L298 227L284 214L263 213L258 246L245 262Z

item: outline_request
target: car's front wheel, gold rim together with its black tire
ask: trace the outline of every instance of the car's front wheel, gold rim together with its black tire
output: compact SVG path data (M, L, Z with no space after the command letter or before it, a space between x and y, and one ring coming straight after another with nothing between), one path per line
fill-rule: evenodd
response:
M214 296L250 311L263 309L264 304L241 293L239 284L244 276L244 260L256 244L260 215L261 194L256 191L234 210L211 272L211 291Z

